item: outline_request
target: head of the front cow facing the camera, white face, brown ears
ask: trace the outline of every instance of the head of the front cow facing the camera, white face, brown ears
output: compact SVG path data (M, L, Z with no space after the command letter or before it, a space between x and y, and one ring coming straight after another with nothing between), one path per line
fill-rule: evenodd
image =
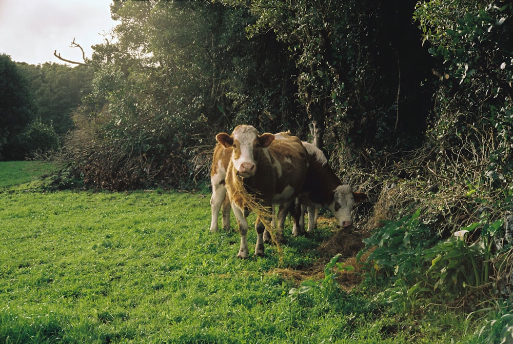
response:
M220 133L215 138L223 146L233 147L233 167L238 175L248 178L257 171L258 148L268 147L274 140L274 135L259 135L254 127L241 125L236 127L231 135Z

